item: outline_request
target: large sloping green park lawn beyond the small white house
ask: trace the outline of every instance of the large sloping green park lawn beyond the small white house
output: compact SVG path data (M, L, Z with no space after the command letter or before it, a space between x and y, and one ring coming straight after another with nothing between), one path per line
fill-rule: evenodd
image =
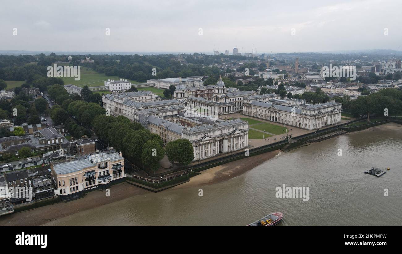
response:
M74 80L74 77L71 78L62 78L65 85L72 84L75 86L104 86L105 80L120 80L118 76L106 76L104 73L98 73L94 71L92 68L81 66L81 78L80 80ZM139 82L135 80L129 80L131 84L137 84Z

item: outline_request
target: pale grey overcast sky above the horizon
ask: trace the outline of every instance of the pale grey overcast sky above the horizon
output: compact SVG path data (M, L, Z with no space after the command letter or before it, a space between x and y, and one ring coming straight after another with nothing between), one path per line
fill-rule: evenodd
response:
M401 0L2 1L0 50L397 50L401 7Z

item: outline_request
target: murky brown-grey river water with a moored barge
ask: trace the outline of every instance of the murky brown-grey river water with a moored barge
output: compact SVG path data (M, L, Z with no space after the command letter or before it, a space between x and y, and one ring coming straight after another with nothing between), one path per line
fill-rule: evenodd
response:
M283 226L402 225L401 151L402 127L390 123L283 153L225 182L139 195L46 225L246 225L275 211ZM390 170L363 173L371 167ZM309 187L309 200L276 198L283 184Z

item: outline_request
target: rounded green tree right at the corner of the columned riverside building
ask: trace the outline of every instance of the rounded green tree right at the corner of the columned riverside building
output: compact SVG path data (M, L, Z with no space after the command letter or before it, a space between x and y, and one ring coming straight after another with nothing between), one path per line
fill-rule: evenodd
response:
M188 165L194 160L193 145L188 139L177 139L166 145L166 155L170 163L178 162L180 165Z

